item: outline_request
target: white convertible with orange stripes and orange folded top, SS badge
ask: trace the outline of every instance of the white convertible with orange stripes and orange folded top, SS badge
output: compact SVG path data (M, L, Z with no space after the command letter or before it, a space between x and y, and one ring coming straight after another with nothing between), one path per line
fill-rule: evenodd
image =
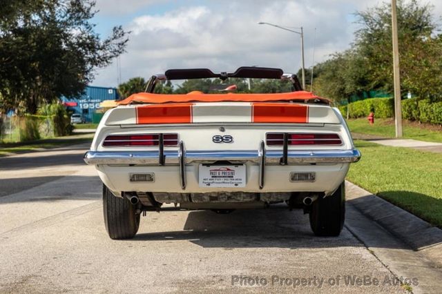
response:
M176 90L158 94L165 85ZM242 67L153 76L146 92L106 112L84 161L104 183L112 239L133 237L146 211L281 202L309 213L316 235L336 236L345 175L360 157L340 112L303 91L296 75Z

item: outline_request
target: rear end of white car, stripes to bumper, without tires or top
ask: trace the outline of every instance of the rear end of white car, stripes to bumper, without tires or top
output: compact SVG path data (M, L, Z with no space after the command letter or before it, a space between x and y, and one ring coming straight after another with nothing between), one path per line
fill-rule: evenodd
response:
M330 106L218 102L119 106L102 119L85 161L116 195L153 193L187 207L216 193L330 195L359 157Z

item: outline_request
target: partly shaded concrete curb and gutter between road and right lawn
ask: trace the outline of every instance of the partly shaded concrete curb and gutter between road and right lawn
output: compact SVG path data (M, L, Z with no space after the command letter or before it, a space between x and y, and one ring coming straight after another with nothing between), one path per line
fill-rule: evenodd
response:
M410 292L441 293L442 230L350 182L345 191L345 227L396 277L418 277Z

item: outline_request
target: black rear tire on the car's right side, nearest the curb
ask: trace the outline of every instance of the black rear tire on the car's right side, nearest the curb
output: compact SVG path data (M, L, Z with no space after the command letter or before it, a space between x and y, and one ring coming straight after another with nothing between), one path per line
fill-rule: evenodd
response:
M338 190L325 198L318 198L311 204L310 226L317 236L338 236L345 221L345 182Z

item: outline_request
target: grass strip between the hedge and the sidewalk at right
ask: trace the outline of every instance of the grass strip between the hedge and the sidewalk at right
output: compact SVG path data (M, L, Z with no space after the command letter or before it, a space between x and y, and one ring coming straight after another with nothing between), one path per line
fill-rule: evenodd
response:
M347 124L352 133L394 137L395 128L392 119L375 119L374 124L368 124L367 119L349 119ZM405 138L421 141L442 142L442 129L437 127L419 126L404 121L403 135Z

